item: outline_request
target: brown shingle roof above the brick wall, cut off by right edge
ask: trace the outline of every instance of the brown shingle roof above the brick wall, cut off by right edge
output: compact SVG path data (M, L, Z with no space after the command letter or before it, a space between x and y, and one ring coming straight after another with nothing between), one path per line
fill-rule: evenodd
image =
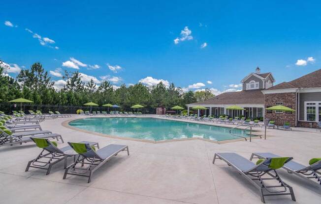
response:
M267 90L288 88L316 88L321 87L321 69L289 82L282 82Z

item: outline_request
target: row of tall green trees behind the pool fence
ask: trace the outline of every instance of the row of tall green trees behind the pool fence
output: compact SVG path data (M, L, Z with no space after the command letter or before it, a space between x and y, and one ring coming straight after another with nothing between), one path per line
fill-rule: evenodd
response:
M204 101L214 97L209 89L205 91L183 92L171 83L166 87L162 82L148 87L142 83L126 86L122 84L115 89L108 80L96 84L93 79L84 83L78 71L64 72L66 84L60 90L55 88L55 81L39 62L30 69L22 69L16 78L6 74L8 67L0 60L0 102L17 98L31 100L36 105L71 105L82 106L86 102L99 105L111 103L121 106L121 110L130 110L130 106L141 104L147 113L155 113L156 107L167 110L175 105L186 108L185 104ZM0 109L7 108L5 106Z

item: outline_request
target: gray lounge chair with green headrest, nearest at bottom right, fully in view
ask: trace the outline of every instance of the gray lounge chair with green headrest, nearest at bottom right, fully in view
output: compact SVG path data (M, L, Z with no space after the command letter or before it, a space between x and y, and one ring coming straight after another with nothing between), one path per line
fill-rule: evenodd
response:
M262 203L265 203L265 196L278 195L291 195L291 199L295 201L292 187L285 183L276 172L276 169L283 167L285 163L292 159L292 157L268 157L266 159L259 160L257 164L255 164L237 153L215 153L213 164L216 158L224 160L241 176L257 187L257 189L260 190ZM263 178L264 175L267 176L267 178ZM254 182L254 180L259 181L259 183ZM279 185L267 185L265 180L277 180Z

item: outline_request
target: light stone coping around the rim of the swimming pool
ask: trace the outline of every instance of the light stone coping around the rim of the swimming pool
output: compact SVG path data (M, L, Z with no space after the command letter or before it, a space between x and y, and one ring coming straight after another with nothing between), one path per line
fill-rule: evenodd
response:
M211 143L216 143L216 144L225 144L225 143L230 143L230 142L238 142L238 141L244 141L243 138L236 138L236 139L229 139L229 140L222 140L222 141L214 141L214 140L209 140L209 139L204 139L204 138L181 138L181 139L170 139L170 140L160 140L160 141L152 141L152 140L146 140L146 139L136 139L136 138L130 138L130 137L120 137L120 136L114 136L114 135L108 135L108 134L104 134L104 133L99 133L99 132L95 132L95 131L89 131L89 130L85 130L85 129L81 129L81 128L75 128L73 126L70 126L69 123L75 120L80 120L80 119L85 119L85 118L120 118L120 117L101 117L101 116L89 116L89 117L80 117L80 118L73 118L73 119L68 119L65 120L61 123L61 125L65 128L69 128L69 129L73 129L73 130L77 130L80 132L85 132L85 133L89 133L89 134L95 134L98 136L102 136L102 137L109 137L109 138L114 138L114 139L121 139L121 140L130 140L130 141L137 141L137 142L147 142L147 143L166 143L166 142L180 142L180 141L187 141L187 140L202 140L205 142L211 142ZM129 118L129 117L122 117L122 118ZM156 117L131 117L131 118L154 118L154 119L160 119L160 120L166 120L166 119L162 119L162 118L156 118ZM169 120L169 121L175 121L175 120ZM177 121L177 122L184 122L184 121ZM193 122L187 122L187 123L193 123ZM198 123L193 123L193 124L197 124L197 125L205 125L206 124L198 124ZM210 125L208 124L207 126L214 126L214 125ZM221 127L221 126L217 126L217 127ZM227 128L227 127L223 127L223 128ZM240 128L241 129L241 128ZM255 131L256 133L259 133L261 131ZM259 134L253 134L252 135L256 135L256 137L253 137L252 139L259 139L258 135ZM266 137L272 137L272 135L266 135Z

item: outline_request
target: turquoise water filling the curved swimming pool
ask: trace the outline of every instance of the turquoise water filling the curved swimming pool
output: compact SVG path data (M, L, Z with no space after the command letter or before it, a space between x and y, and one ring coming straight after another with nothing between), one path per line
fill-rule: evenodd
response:
M230 135L229 128L155 118L85 118L71 121L69 125L113 136L153 141L196 137L214 141L240 138ZM233 133L248 136L241 129L234 129Z

